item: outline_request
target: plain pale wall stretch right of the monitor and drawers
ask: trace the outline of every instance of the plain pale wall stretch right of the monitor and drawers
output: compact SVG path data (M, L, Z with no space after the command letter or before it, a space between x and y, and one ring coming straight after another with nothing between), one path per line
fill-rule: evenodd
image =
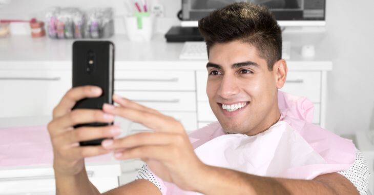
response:
M328 74L327 126L341 134L374 123L374 1L327 0L333 71ZM371 128L374 130L374 126Z

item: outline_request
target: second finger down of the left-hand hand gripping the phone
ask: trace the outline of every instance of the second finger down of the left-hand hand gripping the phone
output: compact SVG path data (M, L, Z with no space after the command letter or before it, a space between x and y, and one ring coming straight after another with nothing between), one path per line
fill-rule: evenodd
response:
M48 124L51 136L71 130L73 126L86 123L112 123L114 115L104 113L102 110L76 109Z

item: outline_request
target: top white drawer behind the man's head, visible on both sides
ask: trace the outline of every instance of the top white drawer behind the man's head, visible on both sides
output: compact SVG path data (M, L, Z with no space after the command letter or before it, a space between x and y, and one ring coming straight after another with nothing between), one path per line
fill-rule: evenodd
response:
M206 96L206 71L196 72L197 101L208 101ZM305 96L311 102L321 102L321 72L320 71L288 71L284 92Z

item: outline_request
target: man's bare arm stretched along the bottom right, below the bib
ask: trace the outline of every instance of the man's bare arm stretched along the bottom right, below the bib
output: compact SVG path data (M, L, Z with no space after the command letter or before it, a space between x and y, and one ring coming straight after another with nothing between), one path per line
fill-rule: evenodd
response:
M313 180L261 177L231 169L207 166L197 191L204 194L359 194L339 173L319 175Z

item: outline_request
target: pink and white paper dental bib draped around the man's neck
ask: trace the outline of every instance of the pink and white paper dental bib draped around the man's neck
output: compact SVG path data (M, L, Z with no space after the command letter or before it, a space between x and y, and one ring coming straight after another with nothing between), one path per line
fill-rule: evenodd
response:
M190 133L196 155L208 165L266 177L311 180L349 169L355 145L311 124L310 101L279 91L278 102L280 120L257 135L226 134L218 122ZM164 184L162 194L200 194L158 180Z

